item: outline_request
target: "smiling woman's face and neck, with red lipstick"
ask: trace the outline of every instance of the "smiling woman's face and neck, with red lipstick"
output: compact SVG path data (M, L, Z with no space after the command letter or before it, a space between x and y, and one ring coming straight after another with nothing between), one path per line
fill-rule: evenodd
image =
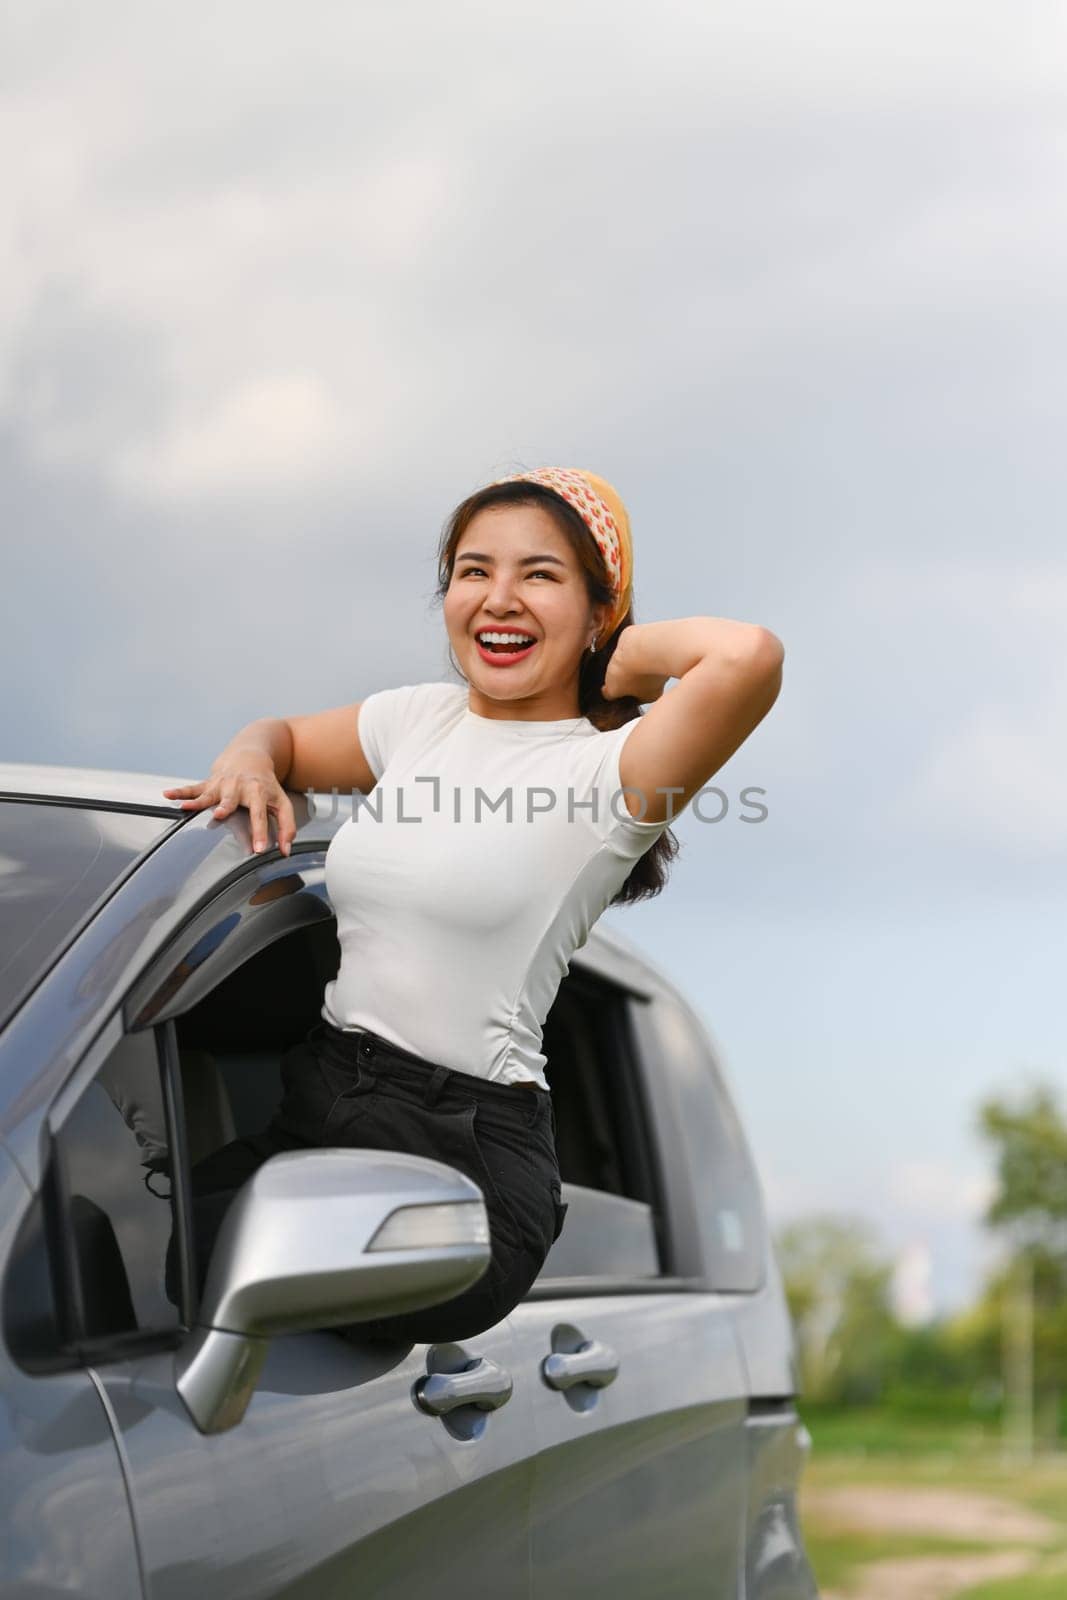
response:
M603 619L585 574L542 506L486 506L456 547L445 626L470 709L534 720L576 717L582 651ZM493 650L485 630L522 634L522 650ZM506 702L501 707L501 702Z

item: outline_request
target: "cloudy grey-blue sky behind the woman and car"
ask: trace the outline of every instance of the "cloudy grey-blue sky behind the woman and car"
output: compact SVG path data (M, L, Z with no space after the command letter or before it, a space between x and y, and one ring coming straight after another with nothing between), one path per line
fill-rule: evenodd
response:
M773 1222L965 1304L977 1104L1067 1091L1067 13L40 0L0 59L3 758L198 778L453 677L453 506L601 474L638 622L785 646L726 816L603 925Z

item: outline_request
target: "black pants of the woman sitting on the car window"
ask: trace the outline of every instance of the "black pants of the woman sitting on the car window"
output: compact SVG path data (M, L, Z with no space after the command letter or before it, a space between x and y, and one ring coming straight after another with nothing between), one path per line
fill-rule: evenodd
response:
M338 1331L410 1344L467 1339L518 1304L566 1214L550 1094L456 1072L379 1034L325 1021L283 1054L282 1085L262 1133L234 1139L192 1170L202 1293L222 1218L256 1168L280 1150L344 1146L429 1155L472 1178L485 1195L491 1259L477 1283L440 1306Z

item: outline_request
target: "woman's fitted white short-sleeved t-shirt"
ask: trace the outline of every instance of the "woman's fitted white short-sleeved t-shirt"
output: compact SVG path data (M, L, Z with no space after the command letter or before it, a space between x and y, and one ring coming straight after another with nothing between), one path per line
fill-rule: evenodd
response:
M322 1016L547 1088L541 1032L568 962L670 822L632 818L619 786L640 718L498 722L467 699L405 683L360 706L378 784L326 851L341 968Z

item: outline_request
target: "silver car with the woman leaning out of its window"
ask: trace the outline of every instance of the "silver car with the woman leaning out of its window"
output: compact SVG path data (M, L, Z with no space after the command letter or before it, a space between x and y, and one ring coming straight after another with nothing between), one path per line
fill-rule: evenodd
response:
M266 1162L197 1294L189 1170L318 1021L350 802L293 795L291 856L253 856L179 782L0 766L6 1600L817 1597L758 1178L699 1018L616 936L545 1026L569 1210L510 1317L360 1342L488 1264L480 1189L381 1150Z

